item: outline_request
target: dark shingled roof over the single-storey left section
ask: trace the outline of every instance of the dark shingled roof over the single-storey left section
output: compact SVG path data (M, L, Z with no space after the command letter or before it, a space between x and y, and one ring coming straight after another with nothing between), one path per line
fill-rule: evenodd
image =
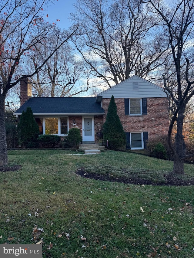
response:
M28 106L34 115L100 115L104 114L95 97L32 97L14 115L21 115Z

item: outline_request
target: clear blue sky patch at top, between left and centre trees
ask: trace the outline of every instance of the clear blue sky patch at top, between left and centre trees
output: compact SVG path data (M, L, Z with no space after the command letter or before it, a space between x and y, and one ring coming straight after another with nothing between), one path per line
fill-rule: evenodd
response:
M71 25L68 16L70 12L75 11L73 7L75 2L76 0L55 0L54 4L45 8L44 20L55 22L62 29L68 29ZM47 14L48 18L46 18ZM56 22L57 19L60 21Z

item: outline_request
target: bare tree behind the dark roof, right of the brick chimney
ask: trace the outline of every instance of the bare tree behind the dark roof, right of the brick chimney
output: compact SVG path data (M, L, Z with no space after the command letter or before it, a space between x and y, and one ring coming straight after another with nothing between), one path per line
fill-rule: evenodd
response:
M48 53L52 52L55 44L55 38L50 36L49 48L41 44L29 57L31 70L35 68L37 62L45 60ZM43 49L42 49L43 48ZM37 71L35 76L31 77L33 95L41 96L69 96L76 82L83 76L82 60L78 58L75 51L69 44L63 45L55 54L45 63L41 70Z

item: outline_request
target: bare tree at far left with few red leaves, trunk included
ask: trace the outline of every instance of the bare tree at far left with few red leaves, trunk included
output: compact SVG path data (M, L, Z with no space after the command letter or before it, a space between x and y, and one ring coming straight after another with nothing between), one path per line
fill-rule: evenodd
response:
M7 164L5 134L5 98L8 91L23 78L34 76L53 54L72 36L67 31L59 31L53 24L42 18L43 6L49 0L5 0L0 2L0 165ZM49 33L55 35L55 45L34 71L24 74L23 64L27 56L35 51L37 44L47 47Z

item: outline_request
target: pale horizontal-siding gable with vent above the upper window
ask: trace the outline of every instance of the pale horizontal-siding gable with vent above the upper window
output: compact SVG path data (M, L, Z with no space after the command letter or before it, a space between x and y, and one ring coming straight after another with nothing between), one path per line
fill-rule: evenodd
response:
M138 83L138 89L133 89L133 83ZM102 98L164 98L167 97L163 88L147 81L137 75L133 75L117 85L98 94L96 102ZM101 97L101 98L100 98Z

